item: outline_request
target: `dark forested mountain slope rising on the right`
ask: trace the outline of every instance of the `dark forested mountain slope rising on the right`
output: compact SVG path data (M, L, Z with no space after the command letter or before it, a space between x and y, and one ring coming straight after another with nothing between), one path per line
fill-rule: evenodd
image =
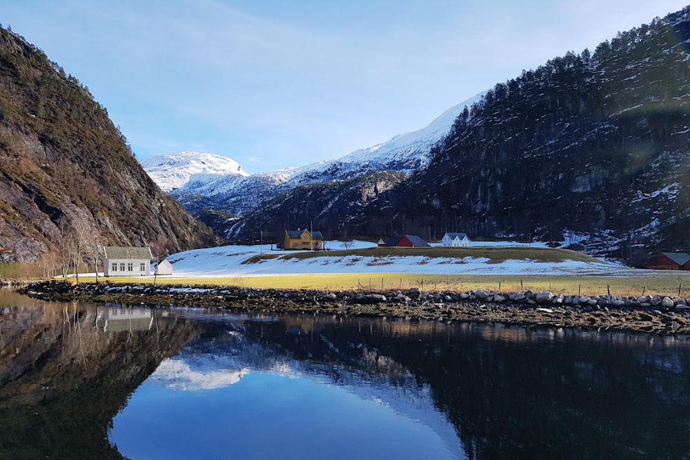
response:
M689 19L685 8L498 83L424 170L345 225L370 236L579 241L633 263L689 250ZM646 243L631 248L632 237Z

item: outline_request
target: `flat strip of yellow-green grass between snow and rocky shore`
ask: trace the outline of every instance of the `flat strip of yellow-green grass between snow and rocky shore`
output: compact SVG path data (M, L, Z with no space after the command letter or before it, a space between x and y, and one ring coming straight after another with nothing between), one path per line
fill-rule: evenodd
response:
M551 291L566 295L613 295L660 294L690 298L690 272L650 272L631 270L626 277L598 277L575 275L438 275L438 274L397 274L397 273L320 273L320 274L276 274L260 277L208 277L180 278L158 277L157 283L175 284L213 284L223 286L244 286L247 288L284 289L375 289L405 290L495 290L514 292L517 290ZM79 277L81 281L92 278ZM101 278L101 281L103 278ZM152 283L152 277L108 278L115 283Z

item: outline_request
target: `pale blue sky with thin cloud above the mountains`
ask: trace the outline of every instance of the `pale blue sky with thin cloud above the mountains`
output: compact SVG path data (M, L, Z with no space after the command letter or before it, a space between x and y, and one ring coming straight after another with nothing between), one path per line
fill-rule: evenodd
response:
M0 23L87 86L137 158L256 173L424 128L684 1L3 0Z

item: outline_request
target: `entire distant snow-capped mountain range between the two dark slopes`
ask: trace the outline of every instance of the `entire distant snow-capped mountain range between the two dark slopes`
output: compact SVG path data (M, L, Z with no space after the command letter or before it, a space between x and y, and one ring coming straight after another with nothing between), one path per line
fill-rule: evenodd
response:
M398 134L384 143L355 150L339 159L247 174L228 157L199 152L177 152L140 161L158 186L190 212L215 208L245 214L278 193L309 183L352 179L368 172L393 170L410 174L428 163L428 152L446 137L465 106L482 94L449 108L425 128Z

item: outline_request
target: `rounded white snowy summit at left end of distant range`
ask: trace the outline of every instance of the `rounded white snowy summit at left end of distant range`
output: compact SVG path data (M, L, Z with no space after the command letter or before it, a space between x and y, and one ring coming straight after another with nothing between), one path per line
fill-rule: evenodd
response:
M191 183L208 183L220 177L247 177L237 161L220 155L177 152L139 161L148 175L165 192Z

